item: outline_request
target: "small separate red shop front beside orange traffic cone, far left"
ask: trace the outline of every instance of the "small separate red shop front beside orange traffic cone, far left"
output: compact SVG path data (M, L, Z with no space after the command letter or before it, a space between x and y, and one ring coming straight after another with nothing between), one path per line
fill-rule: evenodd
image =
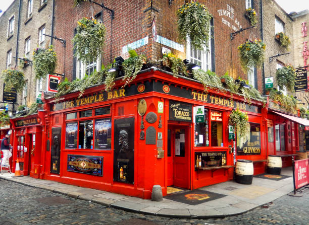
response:
M41 153L43 143L44 113L11 119L13 145L13 168L15 171L17 159L20 173L39 178L41 170Z

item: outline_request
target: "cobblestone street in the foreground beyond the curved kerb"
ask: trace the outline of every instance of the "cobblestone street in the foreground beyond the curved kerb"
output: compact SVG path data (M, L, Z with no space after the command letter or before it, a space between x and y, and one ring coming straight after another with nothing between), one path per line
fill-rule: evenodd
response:
M0 179L0 225L14 224L309 224L309 189L247 213L217 219L143 215Z

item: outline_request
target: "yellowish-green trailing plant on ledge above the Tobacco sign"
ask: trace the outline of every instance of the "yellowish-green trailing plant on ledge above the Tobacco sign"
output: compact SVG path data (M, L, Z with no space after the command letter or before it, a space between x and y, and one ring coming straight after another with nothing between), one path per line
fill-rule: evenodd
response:
M188 75L187 67L184 62L172 53L163 54L162 63L164 66L170 67L172 69L174 77L178 77L179 74L184 76Z

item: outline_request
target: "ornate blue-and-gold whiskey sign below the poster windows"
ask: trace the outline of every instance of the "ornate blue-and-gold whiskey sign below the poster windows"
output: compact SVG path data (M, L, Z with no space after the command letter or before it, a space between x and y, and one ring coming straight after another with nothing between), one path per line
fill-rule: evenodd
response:
M103 176L103 157L68 155L68 171Z

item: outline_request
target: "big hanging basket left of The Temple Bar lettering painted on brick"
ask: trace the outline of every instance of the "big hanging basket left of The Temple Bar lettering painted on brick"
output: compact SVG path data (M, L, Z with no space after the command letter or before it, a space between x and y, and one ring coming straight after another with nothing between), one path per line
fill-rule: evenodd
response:
M191 2L184 4L178 11L179 37L185 41L189 38L194 49L202 50L208 46L212 15L205 5Z

